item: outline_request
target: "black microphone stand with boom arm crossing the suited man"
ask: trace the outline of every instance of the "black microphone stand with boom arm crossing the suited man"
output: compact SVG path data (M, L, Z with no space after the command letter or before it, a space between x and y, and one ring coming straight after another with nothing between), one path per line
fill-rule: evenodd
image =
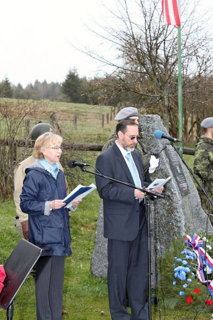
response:
M165 196L159 193L156 193L154 191L150 191L147 190L146 188L142 187L139 188L137 186L135 186L134 184L128 183L128 182L124 182L124 181L120 181L114 178L111 178L109 176L106 176L102 173L97 173L94 171L90 171L85 169L83 166L80 166L81 171L83 172L88 172L88 173L92 173L94 175L99 175L105 179L108 179L110 181L114 181L114 182L118 182L124 185L128 185L134 189L138 189L140 191L142 191L143 193L145 193L145 197L144 197L144 201L147 207L147 229L148 229L148 320L151 320L151 240L150 240L150 196L154 196L154 197L159 197L159 198L164 198ZM95 168L94 168L95 169Z

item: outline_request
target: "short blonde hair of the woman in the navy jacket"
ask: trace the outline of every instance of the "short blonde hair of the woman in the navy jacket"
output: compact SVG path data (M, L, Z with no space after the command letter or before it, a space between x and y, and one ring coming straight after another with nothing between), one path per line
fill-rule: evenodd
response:
M52 132L45 132L39 135L34 145L35 158L43 159L44 156L42 150L51 146L51 144L60 144L62 140L63 139L60 135Z

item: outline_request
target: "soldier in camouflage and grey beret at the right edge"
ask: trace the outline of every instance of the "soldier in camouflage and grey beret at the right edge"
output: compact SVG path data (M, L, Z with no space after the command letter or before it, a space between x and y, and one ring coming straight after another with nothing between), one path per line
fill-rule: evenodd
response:
M200 182L213 201L213 117L205 118L201 122L204 134L197 137L194 154L194 173L200 178ZM197 187L201 205L206 213L213 214L213 207L208 202L202 190ZM208 216L213 225L213 215Z

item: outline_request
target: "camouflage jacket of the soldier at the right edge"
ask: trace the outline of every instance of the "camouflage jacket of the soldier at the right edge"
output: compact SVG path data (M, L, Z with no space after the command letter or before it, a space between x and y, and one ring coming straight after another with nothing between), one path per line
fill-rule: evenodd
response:
M213 139L197 139L194 154L194 173L200 178L207 192L213 196Z

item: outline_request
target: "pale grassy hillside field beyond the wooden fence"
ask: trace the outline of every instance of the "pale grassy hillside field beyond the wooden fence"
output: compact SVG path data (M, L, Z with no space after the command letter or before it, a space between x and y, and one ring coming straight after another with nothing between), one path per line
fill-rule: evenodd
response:
M11 102L15 104L15 100L8 99L12 112L16 111L16 108L12 108ZM39 102L42 105L42 101ZM116 121L112 120L106 123L106 114L108 113L110 118L110 107L102 105L88 105L79 103L67 103L67 102L43 102L44 107L42 112L35 112L33 117L27 116L29 120L29 128L36 124L38 121L50 122L50 115L54 112L57 123L61 129L61 134L66 141L74 141L76 143L103 143L107 141L108 136L113 132ZM19 107L19 112L23 112ZM38 109L38 107L37 107ZM36 111L36 107L35 107ZM102 115L104 115L104 127L102 128ZM74 117L76 116L76 129L74 128ZM112 116L112 119L114 117ZM0 118L0 137L2 137L2 130L4 123ZM16 138L20 139L24 137L25 122L22 122L22 126L17 132Z

